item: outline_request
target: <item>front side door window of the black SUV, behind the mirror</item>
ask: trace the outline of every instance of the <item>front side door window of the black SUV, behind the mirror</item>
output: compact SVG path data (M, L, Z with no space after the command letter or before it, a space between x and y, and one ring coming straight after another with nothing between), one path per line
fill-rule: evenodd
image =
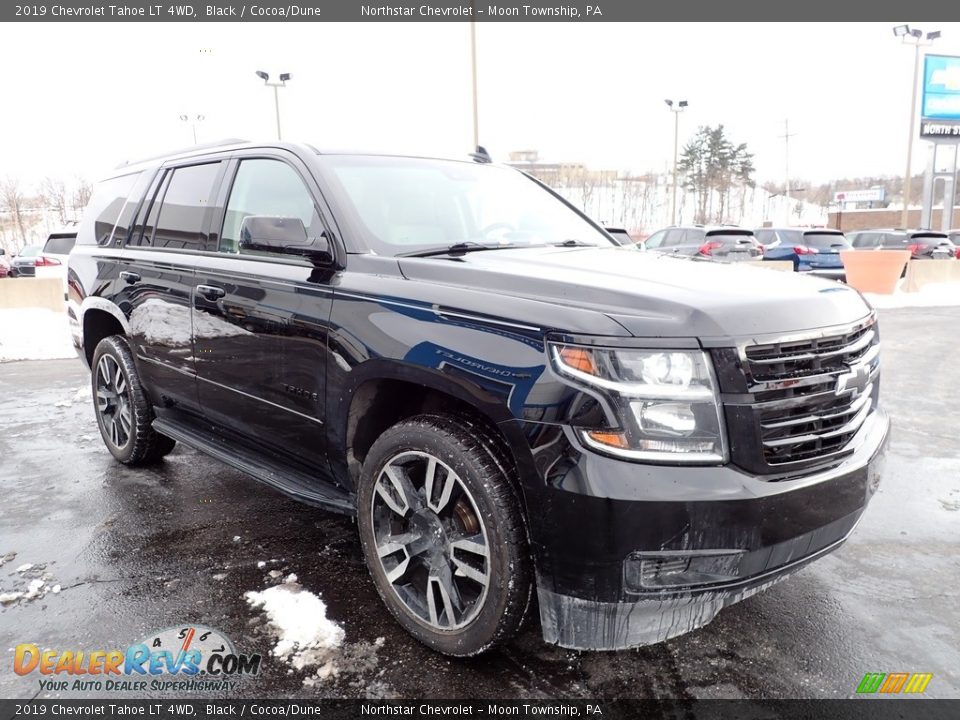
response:
M252 216L297 218L308 237L323 234L310 191L297 171L280 160L240 163L223 219L220 252L239 252L240 226Z

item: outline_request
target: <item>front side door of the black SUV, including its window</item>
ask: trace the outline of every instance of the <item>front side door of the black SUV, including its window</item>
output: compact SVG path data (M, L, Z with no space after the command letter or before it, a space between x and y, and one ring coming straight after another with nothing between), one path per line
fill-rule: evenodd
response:
M250 216L298 218L310 237L331 238L319 197L296 156L238 154L207 252L197 260L193 307L205 416L259 446L325 467L332 273L304 258L241 251L238 242Z

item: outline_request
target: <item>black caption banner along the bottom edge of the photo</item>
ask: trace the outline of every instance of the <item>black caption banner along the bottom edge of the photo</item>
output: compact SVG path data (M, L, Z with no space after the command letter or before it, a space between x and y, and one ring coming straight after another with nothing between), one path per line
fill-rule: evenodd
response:
M10 718L657 718L658 720L955 720L960 700L0 700Z

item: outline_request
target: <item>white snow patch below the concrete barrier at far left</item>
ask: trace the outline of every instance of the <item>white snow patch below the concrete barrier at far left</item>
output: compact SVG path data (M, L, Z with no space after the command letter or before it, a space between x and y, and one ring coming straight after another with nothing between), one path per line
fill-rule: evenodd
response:
M0 362L76 356L66 313L40 308L0 310Z

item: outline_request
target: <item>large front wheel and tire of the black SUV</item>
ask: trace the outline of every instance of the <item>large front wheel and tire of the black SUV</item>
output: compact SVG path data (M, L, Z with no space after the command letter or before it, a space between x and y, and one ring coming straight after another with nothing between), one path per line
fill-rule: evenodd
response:
M357 524L377 591L446 655L509 640L530 602L526 527L503 458L478 424L421 415L383 433L360 473Z

